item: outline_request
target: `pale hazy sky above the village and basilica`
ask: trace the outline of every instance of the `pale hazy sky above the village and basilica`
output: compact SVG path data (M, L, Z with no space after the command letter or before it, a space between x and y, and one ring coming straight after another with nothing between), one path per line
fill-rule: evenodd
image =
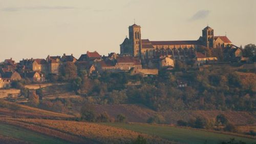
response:
M197 40L209 24L238 46L256 44L256 0L0 0L0 61L118 52L128 26L143 39Z

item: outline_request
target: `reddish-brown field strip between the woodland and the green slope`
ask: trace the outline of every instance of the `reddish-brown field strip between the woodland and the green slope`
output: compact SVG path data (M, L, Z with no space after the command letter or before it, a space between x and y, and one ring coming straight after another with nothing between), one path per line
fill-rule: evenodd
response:
M203 116L208 120L215 119L218 114L225 114L227 119L236 125L245 125L249 122L256 122L256 114L245 111L221 111L221 110L168 110L165 112L156 112L143 105L135 104L117 104L117 105L97 105L95 106L97 113L108 112L111 117L117 114L124 114L128 122L146 123L147 119L160 113L165 118L166 123L176 124L178 120L189 120L198 116Z

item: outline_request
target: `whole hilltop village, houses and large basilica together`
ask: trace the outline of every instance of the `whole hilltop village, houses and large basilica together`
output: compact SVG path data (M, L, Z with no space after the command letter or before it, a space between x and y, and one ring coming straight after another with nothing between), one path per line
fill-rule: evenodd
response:
M66 63L75 64L78 70L86 70L89 75L110 71L154 76L159 70L174 70L178 63L199 68L224 61L248 62L248 57L242 56L242 48L233 45L226 36L214 34L214 29L206 26L198 40L151 41L141 39L141 26L133 24L129 26L129 38L120 44L119 54L111 52L102 56L97 51L87 51L79 59L73 54L63 54L48 55L46 59L23 59L18 63L7 59L0 66L0 86L6 87L11 81L22 78L47 81L59 75L59 69Z

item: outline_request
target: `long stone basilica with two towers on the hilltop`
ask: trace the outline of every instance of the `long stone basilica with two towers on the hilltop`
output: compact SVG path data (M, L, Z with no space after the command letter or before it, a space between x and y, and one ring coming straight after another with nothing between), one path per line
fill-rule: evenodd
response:
M209 26L206 26L202 30L202 36L194 41L150 41L141 39L140 29L141 26L137 24L129 26L129 38L126 37L120 44L121 55L132 55L142 60L170 55L175 60L186 60L195 56L198 47L225 48L232 44L226 36L214 36L214 29Z

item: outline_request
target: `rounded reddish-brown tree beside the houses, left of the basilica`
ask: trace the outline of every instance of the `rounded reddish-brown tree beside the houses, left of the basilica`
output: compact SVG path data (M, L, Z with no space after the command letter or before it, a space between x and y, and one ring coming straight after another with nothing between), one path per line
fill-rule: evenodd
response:
M60 67L60 73L65 80L74 79L77 76L77 68L74 63L67 62Z

